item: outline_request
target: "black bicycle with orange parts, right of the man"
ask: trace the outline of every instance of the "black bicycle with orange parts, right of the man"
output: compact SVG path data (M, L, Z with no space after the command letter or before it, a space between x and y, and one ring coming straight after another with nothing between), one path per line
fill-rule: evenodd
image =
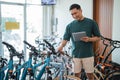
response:
M107 40L109 42L109 46L111 47L111 50L110 52L108 52L105 58L100 60L100 63L98 63L95 66L94 76L97 80L119 80L120 79L120 66L118 63L115 63L115 62L113 63L112 61L109 61L108 58L115 49L120 48L120 41L112 40L112 39L105 38L105 37L102 37L102 39L103 41Z

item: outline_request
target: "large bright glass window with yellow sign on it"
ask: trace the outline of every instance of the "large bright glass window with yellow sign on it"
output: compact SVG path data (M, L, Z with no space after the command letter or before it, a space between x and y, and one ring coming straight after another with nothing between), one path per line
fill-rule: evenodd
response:
M27 2L36 3L38 1L28 0ZM42 35L42 6L40 4L25 4L24 0L1 0L0 5L0 36L2 36L2 41L9 42L18 51L24 50L23 40L34 44L35 38ZM6 23L9 23L7 28ZM12 23L17 24L17 28L12 28L10 26ZM9 53L6 47L3 48L4 50L2 47L4 45L0 46L1 53L4 53L4 56L8 57Z

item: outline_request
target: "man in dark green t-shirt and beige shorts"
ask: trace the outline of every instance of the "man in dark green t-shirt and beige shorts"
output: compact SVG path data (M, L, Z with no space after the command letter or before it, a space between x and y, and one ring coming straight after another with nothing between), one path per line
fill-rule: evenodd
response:
M82 14L82 9L79 4L70 6L70 13L75 19L66 27L63 40L58 47L58 51L62 51L68 41L72 41L72 57L73 57L73 72L76 77L80 77L81 68L85 69L89 80L94 80L94 52L93 42L100 40L100 31L97 23ZM85 32L87 36L75 41L72 33Z

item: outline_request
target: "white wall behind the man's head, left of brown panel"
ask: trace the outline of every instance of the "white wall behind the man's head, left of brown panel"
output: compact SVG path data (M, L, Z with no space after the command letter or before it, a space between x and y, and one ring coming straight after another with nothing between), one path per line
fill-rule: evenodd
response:
M64 34L66 25L73 20L69 12L69 7L73 3L81 5L85 17L93 18L93 0L57 0L55 17L58 18L57 33L60 36Z

